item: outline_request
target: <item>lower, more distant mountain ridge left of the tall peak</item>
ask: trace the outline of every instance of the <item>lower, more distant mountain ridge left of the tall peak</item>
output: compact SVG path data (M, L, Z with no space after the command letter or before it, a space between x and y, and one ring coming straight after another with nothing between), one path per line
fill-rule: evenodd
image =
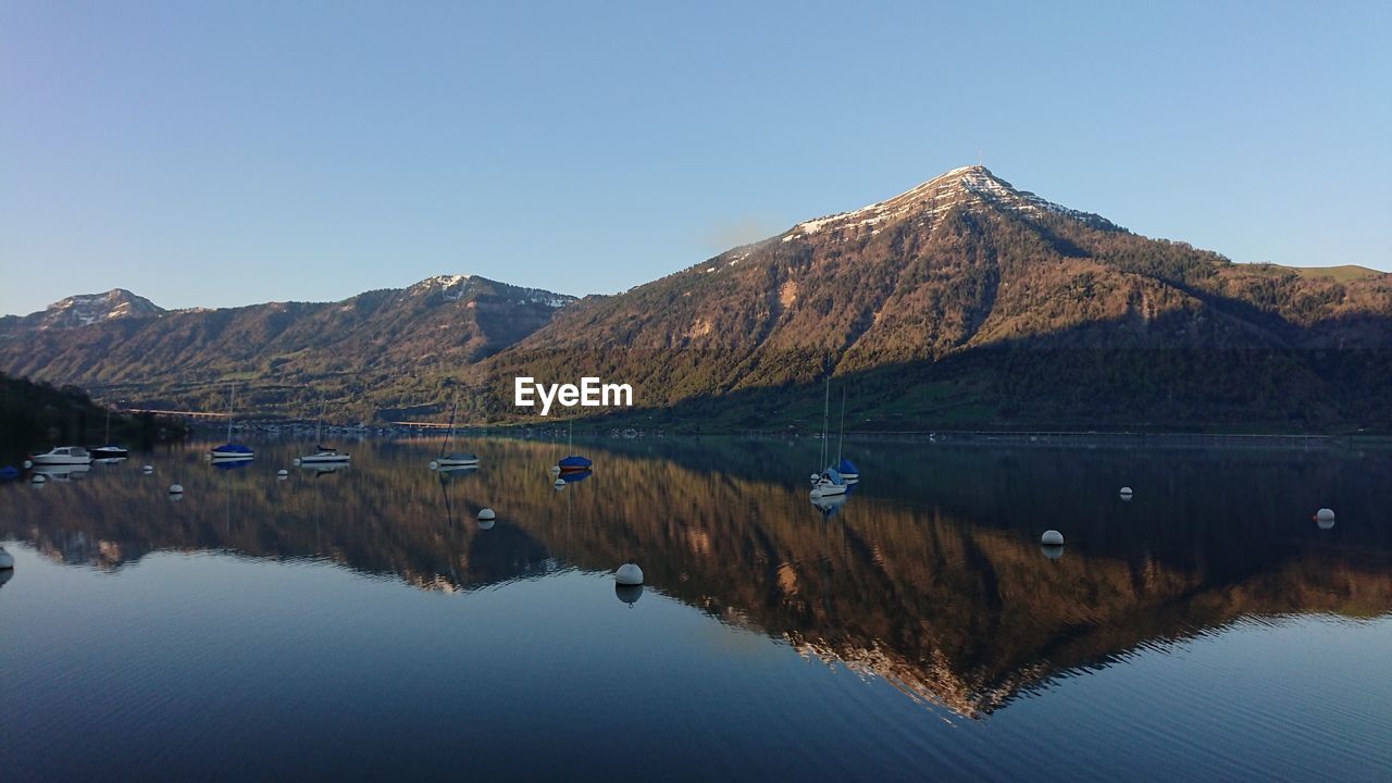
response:
M122 298L148 307L99 311L84 304ZM572 300L470 276L432 277L341 302L231 309L163 311L113 291L0 322L0 368L78 385L102 398L177 410L216 407L213 386L238 380L249 405L294 412L324 396L356 403L387 390L409 397L422 376L516 343ZM438 393L432 383L422 389ZM370 418L372 411L359 405L338 414Z

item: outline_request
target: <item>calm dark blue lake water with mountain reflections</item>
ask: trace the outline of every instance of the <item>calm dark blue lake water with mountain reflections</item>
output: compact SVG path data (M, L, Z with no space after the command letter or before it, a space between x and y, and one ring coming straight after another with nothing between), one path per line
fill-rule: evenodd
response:
M0 485L0 777L1392 780L1388 453L306 446Z

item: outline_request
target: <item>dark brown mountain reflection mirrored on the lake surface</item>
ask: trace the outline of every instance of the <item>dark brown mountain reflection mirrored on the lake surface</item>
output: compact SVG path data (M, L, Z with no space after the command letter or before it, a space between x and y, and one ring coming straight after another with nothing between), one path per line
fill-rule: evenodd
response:
M448 592L635 559L649 591L972 718L1240 619L1392 610L1385 453L880 446L857 449L849 497L818 504L816 443L603 443L593 476L562 492L550 443L469 447L477 470L432 472L427 446L366 442L352 470L276 481L292 443L259 444L238 471L191 444L138 460L156 475L97 465L43 493L6 488L0 536L100 570L221 550ZM180 504L164 502L171 479ZM1311 518L1321 506L1335 525ZM483 507L497 522L476 521ZM1061 556L1041 552L1048 528Z

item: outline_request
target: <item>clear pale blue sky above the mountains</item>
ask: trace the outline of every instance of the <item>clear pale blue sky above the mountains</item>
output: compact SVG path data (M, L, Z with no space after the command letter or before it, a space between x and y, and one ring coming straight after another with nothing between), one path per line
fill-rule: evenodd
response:
M759 7L754 7L759 6ZM1392 3L0 4L0 312L612 293L986 164L1392 269Z

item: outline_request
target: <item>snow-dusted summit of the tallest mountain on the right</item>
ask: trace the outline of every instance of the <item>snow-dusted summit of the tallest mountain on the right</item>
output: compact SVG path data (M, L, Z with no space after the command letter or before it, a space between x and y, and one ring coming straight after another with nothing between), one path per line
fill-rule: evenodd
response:
M958 206L967 209L990 206L1020 216L1062 215L1094 228L1119 230L1116 224L1100 215L1069 209L1031 192L1016 189L1015 185L997 177L986 166L976 164L952 169L894 198L863 206L855 212L842 212L799 223L782 237L782 241L791 242L818 233L839 233L838 238L851 238L860 233L874 235L885 226L909 217L917 217L931 224L937 222L938 216Z

